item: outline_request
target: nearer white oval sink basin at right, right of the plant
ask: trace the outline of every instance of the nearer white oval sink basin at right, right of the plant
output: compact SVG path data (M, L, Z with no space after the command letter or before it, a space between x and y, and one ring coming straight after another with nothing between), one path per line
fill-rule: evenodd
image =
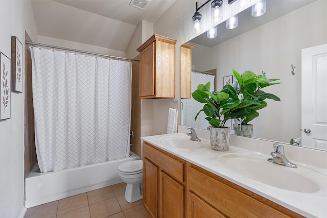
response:
M290 168L278 165L268 162L266 157L260 155L229 153L221 155L218 160L238 174L277 188L306 193L320 190L319 185L309 178L309 174L317 173L305 167Z

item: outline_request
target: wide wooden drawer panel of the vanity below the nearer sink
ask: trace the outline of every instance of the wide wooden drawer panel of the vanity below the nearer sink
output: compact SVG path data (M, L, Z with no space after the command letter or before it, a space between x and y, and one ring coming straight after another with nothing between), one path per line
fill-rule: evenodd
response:
M187 171L188 190L228 217L301 217L196 165Z

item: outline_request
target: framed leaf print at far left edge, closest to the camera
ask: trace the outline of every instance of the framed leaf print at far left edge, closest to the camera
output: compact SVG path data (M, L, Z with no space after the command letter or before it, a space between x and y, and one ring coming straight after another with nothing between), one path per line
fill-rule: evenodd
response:
M11 63L10 59L0 52L0 119L10 118L10 86L11 86Z

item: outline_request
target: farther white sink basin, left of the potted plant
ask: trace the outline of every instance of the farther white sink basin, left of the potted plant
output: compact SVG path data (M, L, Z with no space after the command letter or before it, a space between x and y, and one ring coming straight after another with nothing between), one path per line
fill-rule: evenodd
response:
M210 142L208 140L201 139L202 141L193 141L190 139L190 136L186 135L164 136L158 140L167 143L171 147L179 149L202 149L210 147Z

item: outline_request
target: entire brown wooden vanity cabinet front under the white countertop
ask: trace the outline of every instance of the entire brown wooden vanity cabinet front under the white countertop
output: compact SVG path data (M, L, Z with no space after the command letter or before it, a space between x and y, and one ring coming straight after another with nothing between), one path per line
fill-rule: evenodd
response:
M143 164L143 205L151 218L303 217L147 142Z

